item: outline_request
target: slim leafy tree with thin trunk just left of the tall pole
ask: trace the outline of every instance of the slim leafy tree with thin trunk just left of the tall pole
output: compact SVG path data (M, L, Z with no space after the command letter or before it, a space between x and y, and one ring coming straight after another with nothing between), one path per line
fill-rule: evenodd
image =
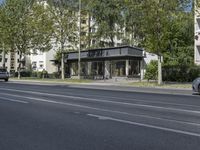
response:
M49 0L49 12L54 22L54 38L58 51L62 53L62 79L65 78L64 53L76 49L77 45L77 15L74 3L69 0Z

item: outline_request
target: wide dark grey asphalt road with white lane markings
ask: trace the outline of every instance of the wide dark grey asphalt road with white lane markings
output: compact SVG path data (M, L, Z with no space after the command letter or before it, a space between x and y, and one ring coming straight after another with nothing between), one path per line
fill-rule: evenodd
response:
M0 82L0 150L199 150L200 97Z

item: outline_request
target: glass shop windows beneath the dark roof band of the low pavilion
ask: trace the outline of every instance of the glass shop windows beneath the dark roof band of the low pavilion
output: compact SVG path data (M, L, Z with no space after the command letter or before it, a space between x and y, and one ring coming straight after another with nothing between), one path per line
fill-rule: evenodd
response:
M107 61L87 61L81 62L81 76L102 76L105 70L110 77L139 77L140 76L140 60L113 60ZM78 63L71 63L71 76L78 76ZM108 77L108 78L110 78Z

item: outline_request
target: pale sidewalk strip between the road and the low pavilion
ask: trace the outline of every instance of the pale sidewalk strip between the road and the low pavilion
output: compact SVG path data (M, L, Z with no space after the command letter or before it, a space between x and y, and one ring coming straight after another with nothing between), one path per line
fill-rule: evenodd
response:
M174 88L168 86L156 87L140 87L134 84L127 84L122 82L56 82L43 80L17 80L10 79L11 83L18 84L35 84L35 85L50 85L50 86L66 86L71 88L84 88L96 90L110 90L110 91L124 91L124 92L140 92L140 93L156 93L156 94L173 94L173 95L193 95L191 88Z

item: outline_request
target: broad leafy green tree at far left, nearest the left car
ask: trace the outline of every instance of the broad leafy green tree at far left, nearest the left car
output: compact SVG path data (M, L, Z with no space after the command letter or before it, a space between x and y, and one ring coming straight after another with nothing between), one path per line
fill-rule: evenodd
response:
M51 49L53 22L42 3L34 0L7 0L4 9L6 46L18 52L18 78L25 55Z

